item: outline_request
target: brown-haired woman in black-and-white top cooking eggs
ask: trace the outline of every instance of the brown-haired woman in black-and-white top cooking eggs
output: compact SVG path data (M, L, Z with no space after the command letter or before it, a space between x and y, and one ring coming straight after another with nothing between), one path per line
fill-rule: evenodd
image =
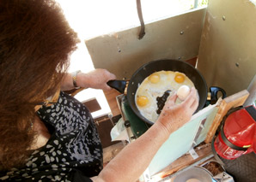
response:
M135 181L198 107L194 88L179 105L175 94L155 124L102 169L94 121L63 91L109 90L115 75L105 69L66 73L79 40L52 0L0 1L0 27L2 180Z

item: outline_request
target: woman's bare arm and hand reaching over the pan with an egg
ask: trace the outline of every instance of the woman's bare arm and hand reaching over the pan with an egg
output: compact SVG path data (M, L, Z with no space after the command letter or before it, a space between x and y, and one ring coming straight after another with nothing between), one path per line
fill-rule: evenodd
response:
M141 137L128 144L119 155L103 168L94 182L136 181L169 135L186 124L198 108L197 91L192 88L183 103L175 105L177 95L170 97L162 114L153 126Z

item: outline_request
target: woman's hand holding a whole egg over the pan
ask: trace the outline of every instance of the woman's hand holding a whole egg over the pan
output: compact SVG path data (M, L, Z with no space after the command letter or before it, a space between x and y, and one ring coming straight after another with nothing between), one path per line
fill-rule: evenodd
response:
M175 93L165 103L162 113L156 121L161 124L169 134L178 130L191 119L192 114L198 108L198 91L192 87L185 101L180 104L175 104L176 99L177 94Z

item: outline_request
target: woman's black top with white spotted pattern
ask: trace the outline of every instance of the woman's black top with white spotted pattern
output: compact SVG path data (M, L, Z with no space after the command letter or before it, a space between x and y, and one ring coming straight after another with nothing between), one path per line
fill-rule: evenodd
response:
M2 180L91 181L102 168L102 148L88 109L61 92L58 103L38 111L52 134L25 167L1 173Z

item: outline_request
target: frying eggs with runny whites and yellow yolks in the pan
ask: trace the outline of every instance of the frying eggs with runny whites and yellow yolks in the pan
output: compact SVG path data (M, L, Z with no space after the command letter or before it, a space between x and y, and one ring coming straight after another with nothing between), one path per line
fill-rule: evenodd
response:
M156 98L162 97L164 92L168 90L171 91L170 97L174 94L174 91L178 91L182 85L186 85L189 88L194 86L192 81L187 78L184 73L159 71L150 74L137 88L135 94L137 109L146 119L155 122L159 116L159 114L156 113L158 109ZM178 97L176 104L181 102L182 97Z

